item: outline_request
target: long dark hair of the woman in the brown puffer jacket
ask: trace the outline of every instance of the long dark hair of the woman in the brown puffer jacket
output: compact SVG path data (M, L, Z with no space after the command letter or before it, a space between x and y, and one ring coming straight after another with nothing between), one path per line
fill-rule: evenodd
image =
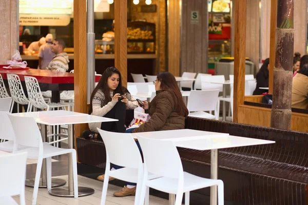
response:
M175 100L175 108L178 114L187 117L188 110L184 104L175 76L169 72L162 72L157 75L157 79L161 82L161 89L171 93Z

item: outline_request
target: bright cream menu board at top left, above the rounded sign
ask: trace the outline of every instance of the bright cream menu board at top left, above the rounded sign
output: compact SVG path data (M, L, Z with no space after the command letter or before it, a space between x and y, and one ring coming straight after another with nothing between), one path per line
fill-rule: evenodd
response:
M72 14L71 0L20 0L20 14Z

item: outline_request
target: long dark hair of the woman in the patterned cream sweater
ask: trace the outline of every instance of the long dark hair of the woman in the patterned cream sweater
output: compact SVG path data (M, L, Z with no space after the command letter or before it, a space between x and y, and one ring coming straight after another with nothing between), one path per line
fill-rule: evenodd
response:
M107 105L112 100L112 98L110 97L110 89L108 87L107 81L108 81L108 78L111 77L111 75L113 73L119 74L119 85L113 91L113 95L115 93L120 93L121 95L123 95L125 93L125 89L122 87L122 79L121 79L120 71L117 68L115 68L115 67L107 68L104 71L104 73L103 73L103 75L102 75L98 85L94 88L94 90L93 90L93 92L91 94L89 114L92 113L92 100L93 100L94 95L98 92L98 90L102 90L102 92L105 95L105 103L104 103L103 106Z

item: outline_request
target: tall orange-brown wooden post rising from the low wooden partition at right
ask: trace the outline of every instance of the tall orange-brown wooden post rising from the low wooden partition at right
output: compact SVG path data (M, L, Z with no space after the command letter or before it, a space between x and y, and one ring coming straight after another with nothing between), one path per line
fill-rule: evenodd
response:
M238 108L244 104L245 94L246 0L237 0L235 10L233 121L238 122Z

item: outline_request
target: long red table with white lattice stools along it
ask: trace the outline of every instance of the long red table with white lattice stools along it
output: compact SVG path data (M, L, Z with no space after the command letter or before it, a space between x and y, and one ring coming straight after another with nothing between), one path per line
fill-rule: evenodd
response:
M2 75L5 83L7 83L7 74L16 74L20 77L23 88L26 90L24 84L25 76L35 77L40 84L42 91L51 90L52 103L60 102L60 91L74 90L74 73L57 72L50 70L38 70L38 69L4 69L0 68L0 74ZM100 80L101 76L95 75L95 82Z

